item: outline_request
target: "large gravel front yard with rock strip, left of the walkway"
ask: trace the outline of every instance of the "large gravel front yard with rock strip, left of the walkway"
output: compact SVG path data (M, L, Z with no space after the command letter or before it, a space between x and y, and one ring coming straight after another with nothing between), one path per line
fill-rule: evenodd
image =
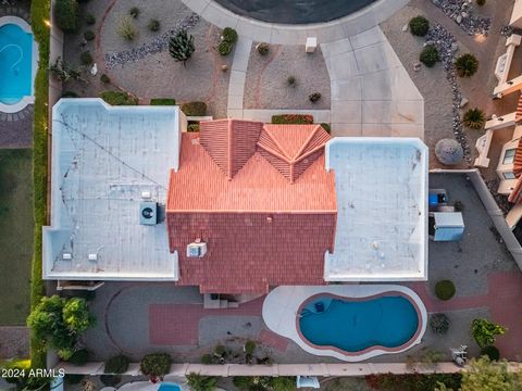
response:
M97 97L101 90L123 89L138 97L141 103L152 98L174 98L179 103L199 100L207 102L209 115L226 116L229 72L223 72L222 65L229 67L233 54L221 56L216 52L219 28L194 14L179 0L94 0L83 4L84 14L92 13L96 25L91 28L84 24L78 34L65 37L64 58L77 65L79 54L89 50L97 62L98 75L90 75L90 66L85 67L84 78L88 83L69 83L64 90ZM140 10L138 17L132 20L138 35L125 41L116 34L116 26L133 7ZM160 22L157 33L147 28L152 18ZM170 34L181 27L186 27L195 37L196 51L186 65L175 62L165 46ZM84 41L87 29L96 31L95 40ZM102 73L110 77L111 84L100 81Z

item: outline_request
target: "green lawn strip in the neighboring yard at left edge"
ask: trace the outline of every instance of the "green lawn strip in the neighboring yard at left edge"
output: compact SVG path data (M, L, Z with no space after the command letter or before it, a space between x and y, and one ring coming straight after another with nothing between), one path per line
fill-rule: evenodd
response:
M29 313L33 211L32 151L0 149L0 326Z

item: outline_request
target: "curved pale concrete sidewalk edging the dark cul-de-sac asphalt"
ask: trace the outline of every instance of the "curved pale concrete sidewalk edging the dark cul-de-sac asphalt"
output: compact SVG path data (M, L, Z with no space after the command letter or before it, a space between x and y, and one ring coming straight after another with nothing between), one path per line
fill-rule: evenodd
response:
M351 37L386 21L409 2L409 0L377 0L335 21L290 25L261 22L241 16L212 0L182 1L206 21L220 28L233 27L241 37L277 45L304 45L307 37L316 37L318 43Z

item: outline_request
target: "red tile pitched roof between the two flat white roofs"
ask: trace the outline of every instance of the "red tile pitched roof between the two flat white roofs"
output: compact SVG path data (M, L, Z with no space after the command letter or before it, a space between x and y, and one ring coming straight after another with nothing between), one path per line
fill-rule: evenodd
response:
M166 205L170 248L179 255L178 283L214 293L324 283L324 253L333 251L337 213L334 173L324 169L322 146L330 137L315 126L265 125L256 139L257 125L237 124L202 123L201 139L182 137L179 171L171 172ZM257 151L246 159L252 140ZM294 174L282 175L284 169L263 157L274 155L263 148L269 142ZM187 244L198 238L207 243L207 254L187 257Z

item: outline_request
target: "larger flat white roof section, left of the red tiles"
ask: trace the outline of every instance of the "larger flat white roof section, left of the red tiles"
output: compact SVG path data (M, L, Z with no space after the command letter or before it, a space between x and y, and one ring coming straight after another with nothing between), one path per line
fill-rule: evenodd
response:
M139 203L142 192L166 202L169 173L179 163L179 115L177 106L101 99L54 105L44 278L177 280L165 223L140 225Z

